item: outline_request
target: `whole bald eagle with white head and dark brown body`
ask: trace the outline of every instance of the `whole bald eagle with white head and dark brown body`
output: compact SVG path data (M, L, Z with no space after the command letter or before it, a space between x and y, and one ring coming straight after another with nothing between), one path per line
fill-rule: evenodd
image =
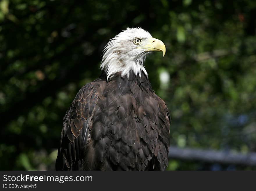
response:
M64 117L56 170L165 170L170 115L152 90L145 56L166 48L127 28L103 52L102 75L84 85Z

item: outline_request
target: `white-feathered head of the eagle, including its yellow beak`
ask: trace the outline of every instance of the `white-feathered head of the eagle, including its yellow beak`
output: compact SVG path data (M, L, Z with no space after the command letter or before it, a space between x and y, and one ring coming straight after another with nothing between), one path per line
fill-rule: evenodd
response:
M164 56L165 50L163 42L152 38L144 29L127 28L106 44L100 68L107 78L117 72L129 78L131 70L140 77L142 72L147 76L143 65L145 56L152 51L162 51Z

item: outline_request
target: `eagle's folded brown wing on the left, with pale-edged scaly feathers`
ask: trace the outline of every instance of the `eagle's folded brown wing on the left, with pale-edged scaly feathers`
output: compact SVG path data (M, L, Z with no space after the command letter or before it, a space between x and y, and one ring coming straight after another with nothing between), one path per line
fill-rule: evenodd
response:
M100 83L84 85L77 93L64 117L61 146L58 149L56 170L81 170L86 145L92 128L92 116L97 104Z

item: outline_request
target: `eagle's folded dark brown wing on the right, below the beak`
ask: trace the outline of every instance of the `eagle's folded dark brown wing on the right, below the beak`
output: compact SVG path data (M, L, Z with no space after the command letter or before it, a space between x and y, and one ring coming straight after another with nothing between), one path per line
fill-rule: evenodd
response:
M146 152L147 158L151 160L149 170L165 170L168 165L168 148L170 145L170 115L168 108L166 103L156 94L146 98L143 106L145 107L146 115L145 117L141 114L138 116L141 118L142 127L147 132L143 136L143 140L153 154L151 155L152 158L148 154L149 152Z

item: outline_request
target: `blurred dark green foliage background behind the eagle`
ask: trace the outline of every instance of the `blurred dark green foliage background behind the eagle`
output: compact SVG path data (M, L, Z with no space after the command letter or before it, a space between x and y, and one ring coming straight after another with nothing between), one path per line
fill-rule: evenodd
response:
M54 169L63 117L100 75L105 44L142 27L166 45L145 63L170 142L256 151L256 1L0 0L0 169ZM252 166L171 159L168 170Z

